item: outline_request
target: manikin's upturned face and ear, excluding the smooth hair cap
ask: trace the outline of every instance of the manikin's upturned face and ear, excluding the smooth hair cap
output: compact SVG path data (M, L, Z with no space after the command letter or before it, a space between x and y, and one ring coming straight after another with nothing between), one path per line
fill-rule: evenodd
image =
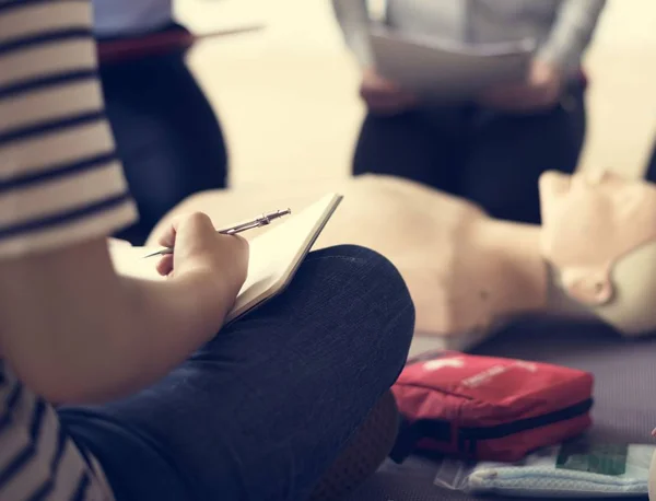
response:
M618 174L540 178L542 253L583 303L612 296L610 271L622 256L656 238L656 187Z

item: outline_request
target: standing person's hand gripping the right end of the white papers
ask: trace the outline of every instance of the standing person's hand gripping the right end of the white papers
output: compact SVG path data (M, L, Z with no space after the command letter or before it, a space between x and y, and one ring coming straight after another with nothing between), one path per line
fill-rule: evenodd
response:
M558 67L534 59L526 81L494 86L480 103L504 112L534 112L553 107L561 97L563 77Z

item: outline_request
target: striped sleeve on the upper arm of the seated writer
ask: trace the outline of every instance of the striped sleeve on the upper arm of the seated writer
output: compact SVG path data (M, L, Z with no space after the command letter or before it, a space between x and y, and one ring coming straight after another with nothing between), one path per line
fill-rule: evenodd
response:
M87 0L0 0L0 256L112 233L134 207Z

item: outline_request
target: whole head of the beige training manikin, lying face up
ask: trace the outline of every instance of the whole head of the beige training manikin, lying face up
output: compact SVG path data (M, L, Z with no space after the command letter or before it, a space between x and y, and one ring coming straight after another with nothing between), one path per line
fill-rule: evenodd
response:
M656 186L548 172L540 201L541 252L565 293L624 335L656 330Z

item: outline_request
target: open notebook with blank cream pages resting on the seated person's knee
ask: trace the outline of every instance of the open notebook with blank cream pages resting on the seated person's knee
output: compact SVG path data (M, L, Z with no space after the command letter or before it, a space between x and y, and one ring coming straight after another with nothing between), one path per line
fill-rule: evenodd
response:
M341 199L341 195L326 195L298 213L292 212L289 218L271 223L265 233L249 240L248 275L226 323L286 288ZM157 258L143 258L157 248L118 243L112 244L109 249L114 267L119 273L149 280L163 279L155 270Z

